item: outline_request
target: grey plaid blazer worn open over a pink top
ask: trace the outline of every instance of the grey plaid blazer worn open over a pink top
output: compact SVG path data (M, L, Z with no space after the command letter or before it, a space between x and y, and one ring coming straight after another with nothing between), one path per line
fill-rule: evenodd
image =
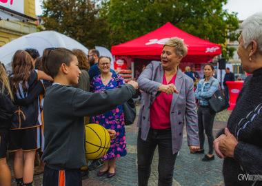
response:
M163 68L159 61L148 64L139 76L137 82L143 90L141 108L137 127L141 127L141 138L145 141L150 130L150 106L154 99L161 93L157 92L163 82ZM183 125L186 125L188 145L199 146L199 129L197 125L196 103L194 98L194 82L177 70L174 85L179 94L173 94L170 108L170 125L172 130L172 152L177 153L181 149L183 141Z

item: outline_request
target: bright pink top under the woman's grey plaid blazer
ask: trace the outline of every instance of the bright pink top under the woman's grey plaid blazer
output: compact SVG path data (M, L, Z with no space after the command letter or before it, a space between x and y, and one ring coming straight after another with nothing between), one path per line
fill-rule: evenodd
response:
M176 81L175 74L169 83L166 82L165 73L163 74L163 85L168 85ZM150 107L150 127L156 130L163 130L170 128L170 107L173 94L165 94L161 92L160 95L154 100Z

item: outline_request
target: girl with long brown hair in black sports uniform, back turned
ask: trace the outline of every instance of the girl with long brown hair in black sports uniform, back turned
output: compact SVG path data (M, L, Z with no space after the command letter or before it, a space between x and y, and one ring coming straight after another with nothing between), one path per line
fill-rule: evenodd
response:
M11 88L15 100L26 99L36 91L39 79L52 80L40 70L33 70L28 52L17 50L12 60ZM44 94L42 92L42 94ZM17 185L32 185L34 156L40 147L39 100L27 105L14 102L14 115L10 123L8 150L14 152L14 176Z

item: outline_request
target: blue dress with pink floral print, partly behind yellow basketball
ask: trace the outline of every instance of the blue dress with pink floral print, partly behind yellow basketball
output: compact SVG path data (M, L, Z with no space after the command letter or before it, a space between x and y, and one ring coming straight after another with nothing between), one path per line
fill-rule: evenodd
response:
M112 74L107 85L103 85L101 75L94 76L90 84L90 92L105 92L105 90L115 89L119 85L125 84L123 78L119 74ZM105 127L105 129L115 130L116 136L111 141L108 152L102 157L105 160L111 160L117 157L125 156L125 122L123 118L123 106L119 105L114 110L105 112L99 116L92 116L90 123L97 123Z

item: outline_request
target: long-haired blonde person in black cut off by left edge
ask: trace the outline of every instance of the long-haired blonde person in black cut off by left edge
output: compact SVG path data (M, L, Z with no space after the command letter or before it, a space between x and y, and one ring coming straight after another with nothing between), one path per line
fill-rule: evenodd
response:
M13 114L12 92L6 70L0 62L0 185L11 185L11 172L6 162L10 118Z

